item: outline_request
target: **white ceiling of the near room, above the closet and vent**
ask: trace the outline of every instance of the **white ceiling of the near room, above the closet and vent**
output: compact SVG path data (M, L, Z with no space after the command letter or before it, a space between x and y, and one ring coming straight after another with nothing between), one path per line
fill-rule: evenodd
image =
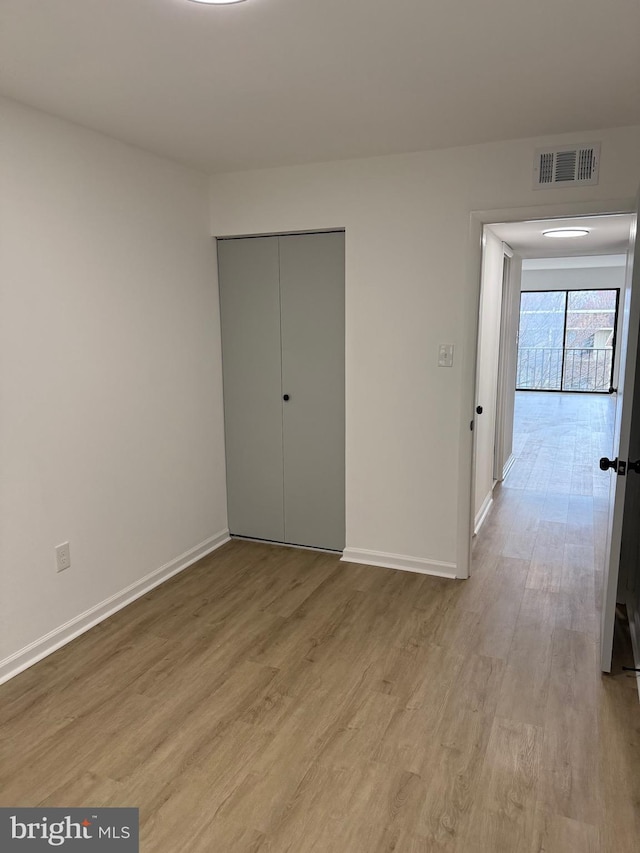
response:
M639 43L636 0L0 0L0 92L220 171L640 123Z

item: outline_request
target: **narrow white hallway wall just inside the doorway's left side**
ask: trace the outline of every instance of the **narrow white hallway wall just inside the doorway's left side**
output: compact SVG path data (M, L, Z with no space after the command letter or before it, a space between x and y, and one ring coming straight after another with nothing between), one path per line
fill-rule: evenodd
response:
M504 249L490 228L484 230L480 320L478 326L478 362L476 403L482 414L475 420L474 530L478 530L493 495L496 406L498 398L498 360L500 357L500 319Z

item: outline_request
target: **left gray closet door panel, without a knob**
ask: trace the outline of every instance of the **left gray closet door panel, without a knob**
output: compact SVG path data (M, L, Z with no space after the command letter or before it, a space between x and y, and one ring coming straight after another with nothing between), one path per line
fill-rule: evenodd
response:
M229 529L284 541L278 238L218 241Z

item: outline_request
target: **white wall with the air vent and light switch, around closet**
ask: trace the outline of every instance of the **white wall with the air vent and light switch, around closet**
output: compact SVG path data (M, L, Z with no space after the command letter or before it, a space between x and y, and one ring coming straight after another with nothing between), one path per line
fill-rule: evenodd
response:
M599 185L533 190L535 148L576 140L602 142ZM639 149L632 127L212 179L214 235L346 229L348 547L466 572L480 268L470 213L628 210ZM437 367L441 342L456 344L452 368Z

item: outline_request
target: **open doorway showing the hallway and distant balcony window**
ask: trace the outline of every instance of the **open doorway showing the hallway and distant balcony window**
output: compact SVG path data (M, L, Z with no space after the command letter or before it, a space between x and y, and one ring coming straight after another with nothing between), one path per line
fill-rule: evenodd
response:
M632 214L485 225L471 574L597 642ZM547 227L590 237L549 241ZM553 246L550 244L553 243ZM561 244L558 246L558 244ZM495 582L495 581L492 581Z

